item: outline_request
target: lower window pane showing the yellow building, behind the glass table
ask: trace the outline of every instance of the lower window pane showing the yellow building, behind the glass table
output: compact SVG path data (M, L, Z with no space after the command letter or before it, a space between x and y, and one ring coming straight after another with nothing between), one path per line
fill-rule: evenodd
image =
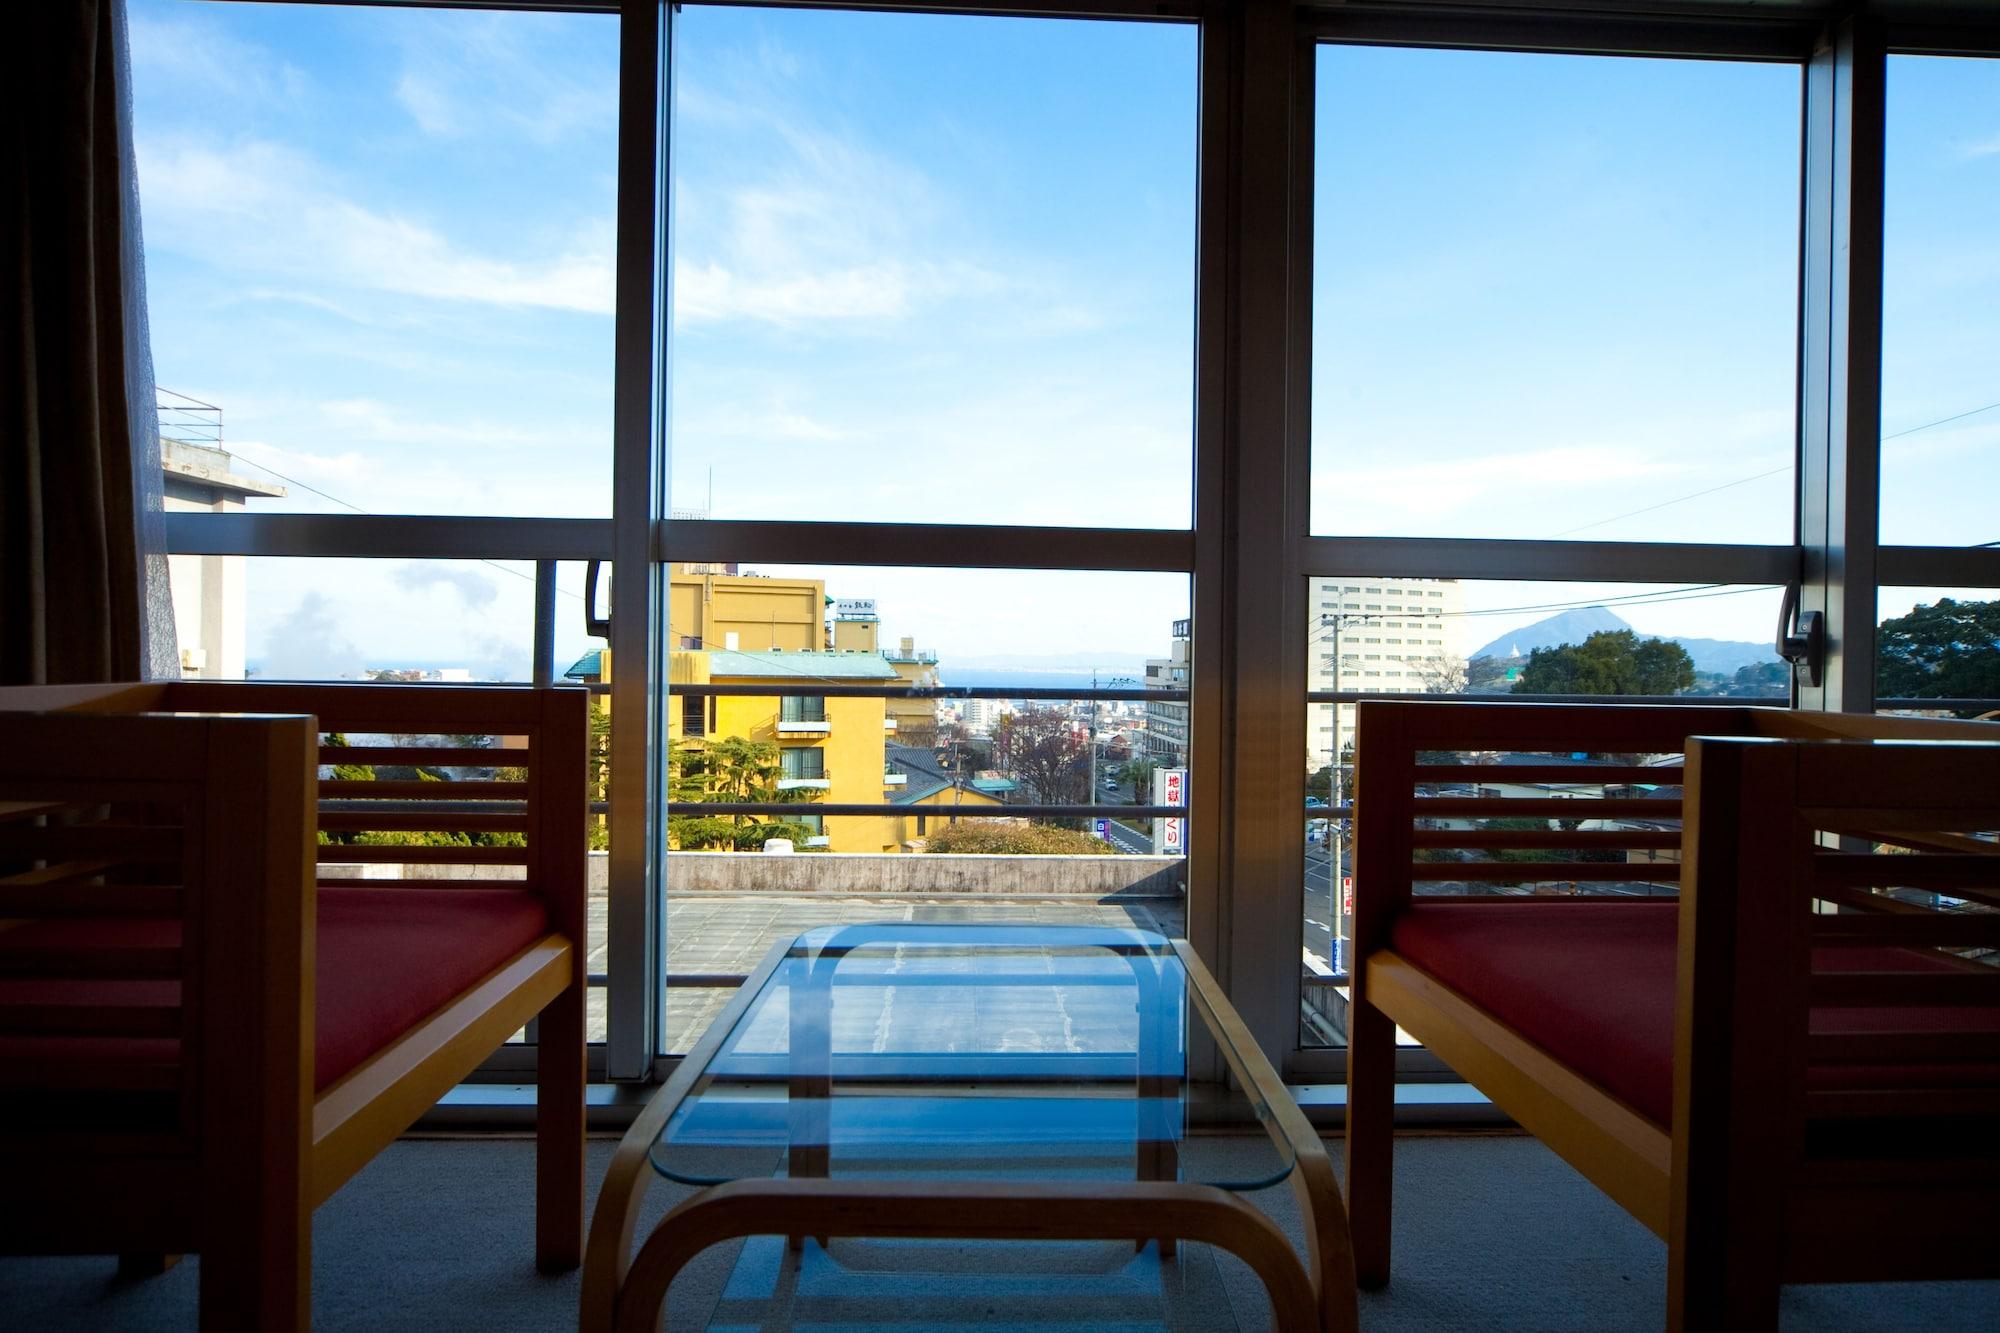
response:
M1186 933L1186 574L674 562L668 602L712 646L668 652L666 1051L810 925Z

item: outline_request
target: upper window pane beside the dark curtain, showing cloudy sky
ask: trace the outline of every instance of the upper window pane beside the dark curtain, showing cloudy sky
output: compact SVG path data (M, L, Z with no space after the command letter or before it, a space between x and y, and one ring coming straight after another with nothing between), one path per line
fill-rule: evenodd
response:
M130 22L170 462L264 512L610 514L618 22Z

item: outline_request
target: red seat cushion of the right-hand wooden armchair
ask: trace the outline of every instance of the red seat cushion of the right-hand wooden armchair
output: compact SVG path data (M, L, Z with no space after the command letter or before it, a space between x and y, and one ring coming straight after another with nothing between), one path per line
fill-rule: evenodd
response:
M1660 1125L1674 1119L1680 913L1652 903L1416 903L1390 933L1404 959ZM1822 949L1816 971L1954 971L1908 949ZM1994 1007L1814 1009L1812 1033L1990 1031ZM1996 1087L2000 1069L1814 1065L1816 1089Z

